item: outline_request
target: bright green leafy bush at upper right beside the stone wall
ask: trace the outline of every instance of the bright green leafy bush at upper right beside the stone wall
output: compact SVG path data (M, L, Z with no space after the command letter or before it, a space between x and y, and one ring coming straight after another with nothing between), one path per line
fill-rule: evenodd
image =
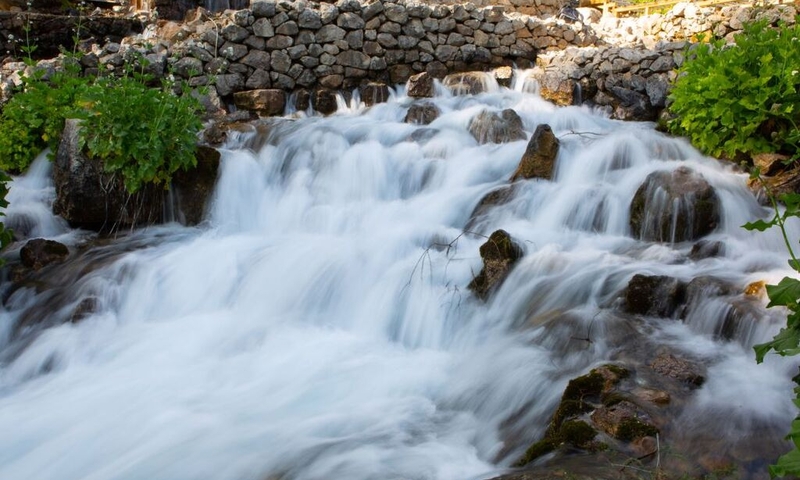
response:
M800 157L800 17L794 26L746 25L690 50L670 93L673 133L714 156Z

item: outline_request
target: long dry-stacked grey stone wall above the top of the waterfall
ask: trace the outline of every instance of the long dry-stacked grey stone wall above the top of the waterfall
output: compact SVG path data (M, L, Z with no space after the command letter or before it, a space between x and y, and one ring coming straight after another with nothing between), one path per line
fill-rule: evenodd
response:
M173 48L174 71L221 96L241 90L352 88L368 80L397 84L427 71L516 63L538 49L588 45L594 38L553 18L506 14L472 3L427 5L357 0L332 3L259 0L208 21Z

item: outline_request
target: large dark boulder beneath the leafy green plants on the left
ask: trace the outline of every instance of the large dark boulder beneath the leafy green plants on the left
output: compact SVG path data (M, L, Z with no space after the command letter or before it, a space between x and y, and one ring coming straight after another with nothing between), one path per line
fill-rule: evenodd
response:
M53 212L73 227L114 231L162 219L164 189L146 185L131 195L122 176L107 173L100 160L78 146L79 120L67 120L53 162Z

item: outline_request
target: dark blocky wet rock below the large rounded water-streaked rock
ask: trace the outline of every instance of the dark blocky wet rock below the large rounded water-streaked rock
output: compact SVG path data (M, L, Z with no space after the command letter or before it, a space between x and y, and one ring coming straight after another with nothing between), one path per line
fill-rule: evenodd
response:
M633 315L671 317L686 297L686 286L677 278L636 274L625 289L624 310Z

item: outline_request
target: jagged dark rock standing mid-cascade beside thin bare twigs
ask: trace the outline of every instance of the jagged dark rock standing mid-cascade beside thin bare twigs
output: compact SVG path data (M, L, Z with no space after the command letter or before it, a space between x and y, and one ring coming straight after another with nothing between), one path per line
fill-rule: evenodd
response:
M481 245L483 269L469 284L478 298L486 300L489 294L505 280L508 272L522 257L522 248L505 230L497 230Z

